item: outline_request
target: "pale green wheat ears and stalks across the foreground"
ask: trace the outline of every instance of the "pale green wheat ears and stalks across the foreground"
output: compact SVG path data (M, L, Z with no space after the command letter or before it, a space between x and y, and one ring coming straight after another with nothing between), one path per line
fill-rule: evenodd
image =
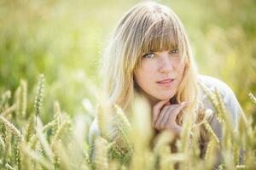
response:
M230 129L224 103L218 91L207 91L222 123L224 139L219 141L206 121L207 113L193 127L184 123L184 131L177 139L177 152L172 153L170 143L173 135L162 132L150 147L152 129L143 100L134 104L132 118L115 106L114 128L119 139L110 138L108 122L110 116L104 106L98 105L101 136L86 139L86 122L81 116L69 116L54 103L53 118L43 124L40 112L44 107L44 75L40 75L34 98L34 109L27 111L26 81L12 95L2 94L0 107L0 167L1 169L253 169L256 163L256 128L252 116L240 119L239 129ZM253 94L248 100L256 105ZM90 108L91 109L91 108ZM140 113L140 114L136 114ZM210 134L206 156L201 158L197 137L199 127ZM132 130L136 129L136 130ZM111 132L110 132L111 133ZM189 142L188 142L189 141ZM242 156L240 151L242 149ZM216 150L221 151L222 163L215 166ZM241 160L243 163L241 164Z

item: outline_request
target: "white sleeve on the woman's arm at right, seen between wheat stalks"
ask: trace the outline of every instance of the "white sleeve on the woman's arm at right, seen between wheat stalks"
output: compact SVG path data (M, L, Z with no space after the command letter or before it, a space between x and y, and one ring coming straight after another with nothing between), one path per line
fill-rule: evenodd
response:
M215 88L218 89L219 94L221 95L221 98L224 101L224 106L227 111L227 116L230 118L232 123L232 128L234 129L234 132L238 130L238 122L240 118L245 118L244 113L241 109L241 105L238 102L238 99L236 98L236 94L232 91L232 89L224 82L219 81L218 79L212 78L212 77L202 77L201 79L203 83L207 86L207 88L210 88L210 90L213 92ZM218 140L221 141L223 139L222 134L222 125L220 122L218 122L216 111L214 110L214 107L212 105L212 102L210 99L207 99L206 95L202 94L202 99L204 106L207 109L212 109L213 114L211 119L208 120L210 126L212 127L213 132L218 137ZM207 132L204 128L202 128L202 132L205 135L202 135L201 138L201 156L205 156L205 152L207 150L207 145L209 142L209 138L207 135ZM240 150L240 164L243 163L242 161L242 148ZM221 150L217 150L217 162L214 167L218 167L219 164L221 164L223 161L223 156L221 153Z

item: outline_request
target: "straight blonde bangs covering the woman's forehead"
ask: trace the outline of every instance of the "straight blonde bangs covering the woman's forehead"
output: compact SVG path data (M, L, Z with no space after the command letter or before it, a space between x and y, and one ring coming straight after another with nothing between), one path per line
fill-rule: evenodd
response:
M171 19L161 16L160 20L153 23L149 21L148 25L142 32L143 41L140 56L148 52L178 48L177 28Z

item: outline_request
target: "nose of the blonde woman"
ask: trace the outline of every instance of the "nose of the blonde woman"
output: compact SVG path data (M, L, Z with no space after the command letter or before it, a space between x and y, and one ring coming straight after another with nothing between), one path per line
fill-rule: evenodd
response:
M172 71L174 71L171 59L169 57L168 52L162 52L159 57L159 71L164 74L168 74Z

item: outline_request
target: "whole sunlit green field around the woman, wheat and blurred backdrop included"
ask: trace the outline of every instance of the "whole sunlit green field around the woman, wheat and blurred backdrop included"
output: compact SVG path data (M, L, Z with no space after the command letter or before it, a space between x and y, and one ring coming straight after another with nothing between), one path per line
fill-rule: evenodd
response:
M183 21L201 74L223 80L236 94L247 118L237 132L230 129L218 91L205 89L224 126L221 142L203 112L196 126L184 125L177 153L170 153L174 137L168 132L152 147L143 100L134 105L133 118L115 106L119 140L110 138L108 110L98 105L99 63L119 17L139 2L0 1L0 169L255 169L254 0L159 1ZM102 117L102 136L89 143L95 116ZM197 143L201 127L210 134L204 159ZM222 163L216 166L219 149Z

